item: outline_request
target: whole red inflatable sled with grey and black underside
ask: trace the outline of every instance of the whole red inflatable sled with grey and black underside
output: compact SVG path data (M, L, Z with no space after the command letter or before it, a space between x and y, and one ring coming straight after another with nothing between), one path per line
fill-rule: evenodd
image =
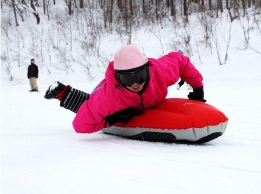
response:
M204 143L221 136L228 118L215 107L188 99L166 99L127 123L102 131L130 139Z

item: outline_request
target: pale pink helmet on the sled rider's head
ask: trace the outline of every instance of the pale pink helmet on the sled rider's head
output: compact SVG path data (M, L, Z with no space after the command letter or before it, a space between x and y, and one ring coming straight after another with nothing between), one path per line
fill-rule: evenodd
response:
M125 45L119 48L114 56L114 69L127 70L144 65L148 62L146 55L136 45Z

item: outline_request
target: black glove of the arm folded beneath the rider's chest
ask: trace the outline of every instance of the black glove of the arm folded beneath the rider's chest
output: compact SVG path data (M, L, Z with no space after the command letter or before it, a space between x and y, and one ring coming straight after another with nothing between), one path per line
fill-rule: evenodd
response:
M133 116L140 115L140 114L142 114L142 112L143 112L142 110L137 110L133 107L130 107L130 108L126 108L121 111L115 112L111 115L108 115L104 118L104 120L106 120L106 122L108 122L108 124L110 126L112 126L113 124L118 123L118 122L126 123L130 119L132 119Z

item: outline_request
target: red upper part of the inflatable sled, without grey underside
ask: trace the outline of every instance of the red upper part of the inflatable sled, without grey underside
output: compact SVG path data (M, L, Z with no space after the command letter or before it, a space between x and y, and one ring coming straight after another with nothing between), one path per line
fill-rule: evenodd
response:
M215 126L228 118L219 109L199 101L188 99L166 99L159 105L145 109L128 123L117 123L118 127L152 129L190 129Z

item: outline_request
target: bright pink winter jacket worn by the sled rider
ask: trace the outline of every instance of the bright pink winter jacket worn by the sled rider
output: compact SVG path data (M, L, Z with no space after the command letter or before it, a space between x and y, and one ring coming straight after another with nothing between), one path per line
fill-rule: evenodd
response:
M190 63L189 58L179 52L171 52L159 59L148 58L149 80L142 92L138 94L121 86L116 77L113 61L108 64L105 79L102 80L79 108L73 127L77 133L93 133L109 127L104 117L120 110L134 107L148 108L157 105L167 96L167 88L179 78L193 88L202 87L200 72Z

